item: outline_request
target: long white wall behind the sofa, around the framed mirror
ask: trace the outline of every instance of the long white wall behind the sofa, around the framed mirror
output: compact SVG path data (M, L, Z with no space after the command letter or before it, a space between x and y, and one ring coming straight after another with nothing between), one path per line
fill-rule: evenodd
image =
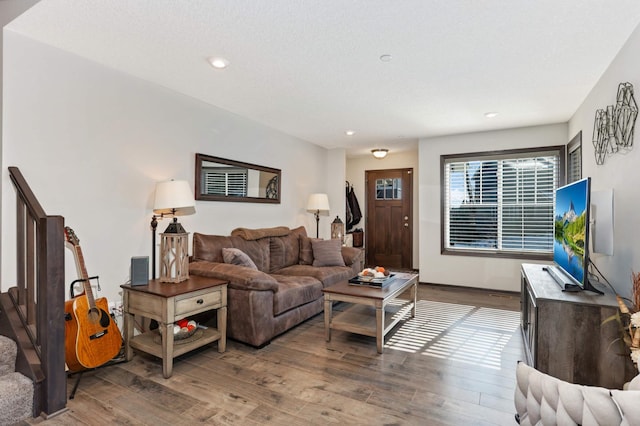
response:
M100 276L98 296L109 300L120 298L130 258L151 256L156 182L186 179L193 189L198 152L282 169L282 197L281 204L197 202L195 215L180 218L188 232L315 229L306 202L311 192L329 192L326 149L15 33L5 31L4 43L3 291L15 285L8 166L20 168L48 214L75 230L89 275ZM327 223L321 236L329 236ZM66 278L77 278L70 251Z

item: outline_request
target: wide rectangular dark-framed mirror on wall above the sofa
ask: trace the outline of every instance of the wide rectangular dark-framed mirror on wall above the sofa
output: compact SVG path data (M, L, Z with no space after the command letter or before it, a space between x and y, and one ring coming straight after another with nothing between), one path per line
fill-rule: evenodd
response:
M280 169L196 154L196 200L280 203Z

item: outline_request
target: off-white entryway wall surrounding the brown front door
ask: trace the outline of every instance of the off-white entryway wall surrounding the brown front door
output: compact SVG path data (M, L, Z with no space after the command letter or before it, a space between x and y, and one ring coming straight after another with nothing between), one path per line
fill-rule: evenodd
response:
M353 185L353 190L358 198L360 210L362 210L362 220L356 228L364 229L365 244L367 239L366 224L366 184L365 171L367 170L388 170L388 169L408 169L413 168L413 267L417 267L420 245L418 227L418 202L420 194L418 191L418 153L415 151L405 151L394 153L393 150L382 160L378 160L369 155L366 157L356 157L347 159L346 180ZM343 182L344 189L344 182ZM421 277L422 279L422 277Z

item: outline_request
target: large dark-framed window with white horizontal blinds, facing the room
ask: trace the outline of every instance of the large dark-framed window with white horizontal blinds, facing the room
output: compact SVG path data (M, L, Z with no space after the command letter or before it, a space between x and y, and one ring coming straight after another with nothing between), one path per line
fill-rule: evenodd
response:
M563 149L442 157L443 253L548 257Z

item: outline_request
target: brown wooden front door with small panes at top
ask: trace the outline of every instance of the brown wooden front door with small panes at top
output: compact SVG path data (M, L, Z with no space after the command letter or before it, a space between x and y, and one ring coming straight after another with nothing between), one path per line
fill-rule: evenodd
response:
M367 266L413 268L413 169L367 170Z

